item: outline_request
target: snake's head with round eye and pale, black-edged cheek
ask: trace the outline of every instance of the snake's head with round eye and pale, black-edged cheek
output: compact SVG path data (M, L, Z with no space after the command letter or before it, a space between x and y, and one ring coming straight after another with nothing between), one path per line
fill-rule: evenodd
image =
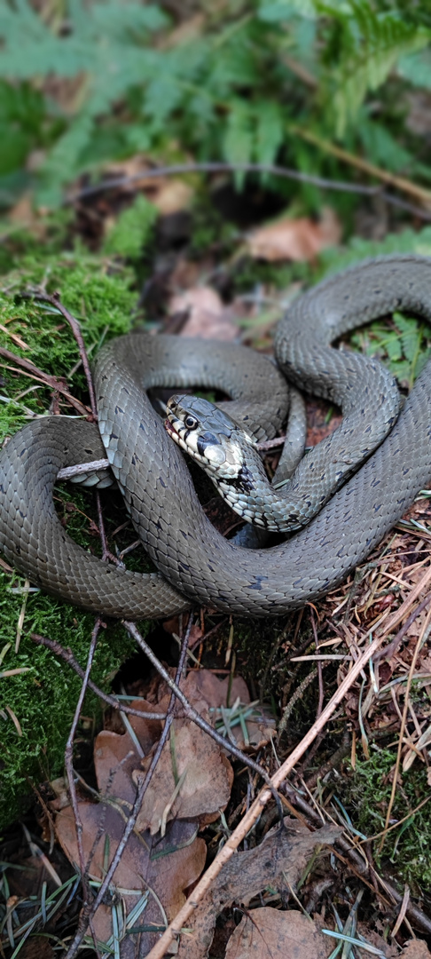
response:
M174 442L193 456L216 483L235 480L244 464L244 447L256 446L224 410L196 396L171 396L165 427Z

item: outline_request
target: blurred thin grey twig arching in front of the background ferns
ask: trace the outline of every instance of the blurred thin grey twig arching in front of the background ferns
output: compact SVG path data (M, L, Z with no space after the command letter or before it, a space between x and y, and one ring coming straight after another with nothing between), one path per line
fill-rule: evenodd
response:
M295 132L298 132L306 139L305 131L295 130ZM322 149L327 149L327 151L329 151L329 148L332 147L331 144L326 144L324 141L319 141L319 146ZM335 152L337 149L338 148L334 147L333 151ZM390 186L396 186L397 189L403 190L403 192L413 192L412 190L408 189L408 187L413 186L413 184L410 183L410 180L399 176L394 177L389 175L386 171L380 170L379 167L366 164L365 161L363 161L361 164L361 162L357 160L357 157L352 156L351 153L347 153L345 151L341 151L341 153L343 155L340 155L339 159L345 161L349 160L353 166L358 166L359 169L364 170L365 173L376 176L378 179L383 179ZM335 155L338 155L338 153L335 152ZM353 163L353 161L356 162ZM158 176L176 176L180 174L198 173L235 173L236 171L246 174L264 173L271 174L273 176L282 176L286 179L296 180L296 182L299 183L309 183L312 186L321 187L323 190L336 190L338 192L354 193L365 197L381 197L382 199L386 200L387 203L390 203L394 206L399 206L401 209L406 209L414 216L420 217L421 220L431 220L431 215L421 207L414 206L411 203L404 202L402 199L393 197L392 194L382 190L381 187L363 186L363 184L360 183L346 183L342 180L329 180L323 176L304 174L300 173L298 170L292 170L289 167L279 167L274 166L273 164L265 163L178 163L171 167L158 167L157 169L145 170L141 174L134 174L131 176L113 176L111 179L104 180L100 183L95 183L92 186L82 187L77 193L74 193L71 197L65 199L64 205L68 206L72 203L75 203L79 199L92 197L98 193L104 193L106 190L132 186L133 183L138 185L139 183L145 182L146 179L154 179ZM420 190L420 187L417 189ZM426 193L426 191L422 191L422 193L423 192Z

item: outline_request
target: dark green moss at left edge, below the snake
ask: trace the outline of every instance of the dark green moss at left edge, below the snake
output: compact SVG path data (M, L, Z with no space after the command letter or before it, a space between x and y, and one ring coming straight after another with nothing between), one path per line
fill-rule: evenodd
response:
M18 652L14 652L16 629L24 596L11 594L22 580L12 584L6 574L0 575L0 650L10 643L2 669L29 669L2 678L0 713L0 751L2 772L0 786L0 824L5 825L19 814L30 792L29 780L39 784L58 776L63 768L64 744L78 700L81 680L65 663L30 638L32 632L71 646L81 667L85 668L94 617L57 602L50 596L34 594L27 601L24 632ZM134 643L120 624L102 630L92 679L104 690L109 680L130 655ZM89 693L83 714L97 725L101 704ZM17 720L17 730L12 715Z

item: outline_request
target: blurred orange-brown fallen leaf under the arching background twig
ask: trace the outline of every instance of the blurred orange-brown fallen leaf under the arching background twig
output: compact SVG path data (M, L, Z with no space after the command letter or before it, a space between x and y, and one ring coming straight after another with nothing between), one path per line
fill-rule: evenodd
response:
M284 217L250 233L247 246L250 255L257 260L269 263L293 260L296 263L314 260L321 249L336 246L340 239L340 222L330 207L324 207L319 222L308 217L298 220Z

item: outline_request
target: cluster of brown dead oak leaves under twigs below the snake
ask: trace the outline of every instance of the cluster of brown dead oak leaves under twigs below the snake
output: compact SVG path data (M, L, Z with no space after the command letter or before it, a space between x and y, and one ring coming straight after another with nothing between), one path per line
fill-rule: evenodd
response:
M229 687L229 677L220 681L207 670L190 672L181 688L194 709L212 722L226 706L228 693L234 707L239 701L250 703L245 683L240 678ZM143 713L164 713L170 702L170 690L160 683L149 698L136 699L132 707ZM232 713L232 707L230 713ZM249 709L250 712L250 709ZM79 802L82 847L89 878L101 883L118 848L125 821L136 797L137 785L147 773L162 733L163 722L129 715L126 732L120 735L103 730L95 740L94 761L99 786L99 802ZM244 746L261 745L271 733L270 719L254 716L238 723L237 740ZM185 718L177 706L170 737L162 750L154 774L139 810L136 827L126 846L111 885L112 902L103 904L94 918L94 929L101 943L112 945L114 902L121 902L123 930L122 959L128 955L147 955L158 936L185 901L187 889L200 876L206 858L206 845L197 832L218 819L226 807L233 782L232 766L223 749L212 737ZM57 808L57 838L69 859L79 865L75 815L72 807ZM137 915L143 916L138 922ZM139 927L139 952L136 947ZM144 928L145 926L145 928Z

